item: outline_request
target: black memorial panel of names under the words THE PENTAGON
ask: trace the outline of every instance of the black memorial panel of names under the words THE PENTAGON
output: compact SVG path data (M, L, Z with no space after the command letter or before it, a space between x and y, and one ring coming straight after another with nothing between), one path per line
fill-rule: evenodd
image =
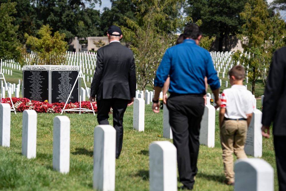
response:
M49 71L23 71L23 97L34 101L49 99Z

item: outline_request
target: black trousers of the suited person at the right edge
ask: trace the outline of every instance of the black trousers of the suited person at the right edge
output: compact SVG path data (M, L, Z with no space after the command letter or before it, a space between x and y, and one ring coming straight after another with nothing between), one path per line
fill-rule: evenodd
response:
M274 136L279 191L286 190L286 136Z

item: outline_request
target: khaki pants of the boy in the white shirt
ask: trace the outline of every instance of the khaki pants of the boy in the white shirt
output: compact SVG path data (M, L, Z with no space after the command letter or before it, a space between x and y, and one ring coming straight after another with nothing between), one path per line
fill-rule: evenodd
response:
M244 145L247 135L246 120L224 120L221 127L221 147L227 181L234 182L233 152L237 159L247 158Z

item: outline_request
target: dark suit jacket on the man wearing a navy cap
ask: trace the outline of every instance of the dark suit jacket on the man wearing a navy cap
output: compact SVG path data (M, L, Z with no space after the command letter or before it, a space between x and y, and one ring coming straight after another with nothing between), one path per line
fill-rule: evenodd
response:
M112 42L97 51L91 97L126 99L135 97L136 72L132 50Z

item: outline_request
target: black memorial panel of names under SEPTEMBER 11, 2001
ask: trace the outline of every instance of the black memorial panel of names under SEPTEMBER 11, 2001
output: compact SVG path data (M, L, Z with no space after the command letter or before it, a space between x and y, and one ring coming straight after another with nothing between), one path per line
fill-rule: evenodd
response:
M76 82L78 71L51 71L51 103L65 103L69 97L69 93ZM68 103L79 101L79 85L78 80L69 97Z

